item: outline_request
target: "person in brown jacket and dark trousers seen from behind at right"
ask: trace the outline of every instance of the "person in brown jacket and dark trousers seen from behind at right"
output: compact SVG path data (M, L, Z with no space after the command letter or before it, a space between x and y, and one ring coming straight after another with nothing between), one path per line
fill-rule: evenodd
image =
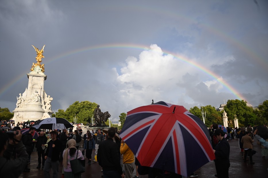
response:
M252 161L252 143L254 142L254 140L252 140L251 136L250 136L250 132L246 131L245 132L245 136L242 137L241 142L243 143L243 149L245 151L244 154L244 163L246 163L246 157L247 155L249 156L250 159L250 164L255 164Z

